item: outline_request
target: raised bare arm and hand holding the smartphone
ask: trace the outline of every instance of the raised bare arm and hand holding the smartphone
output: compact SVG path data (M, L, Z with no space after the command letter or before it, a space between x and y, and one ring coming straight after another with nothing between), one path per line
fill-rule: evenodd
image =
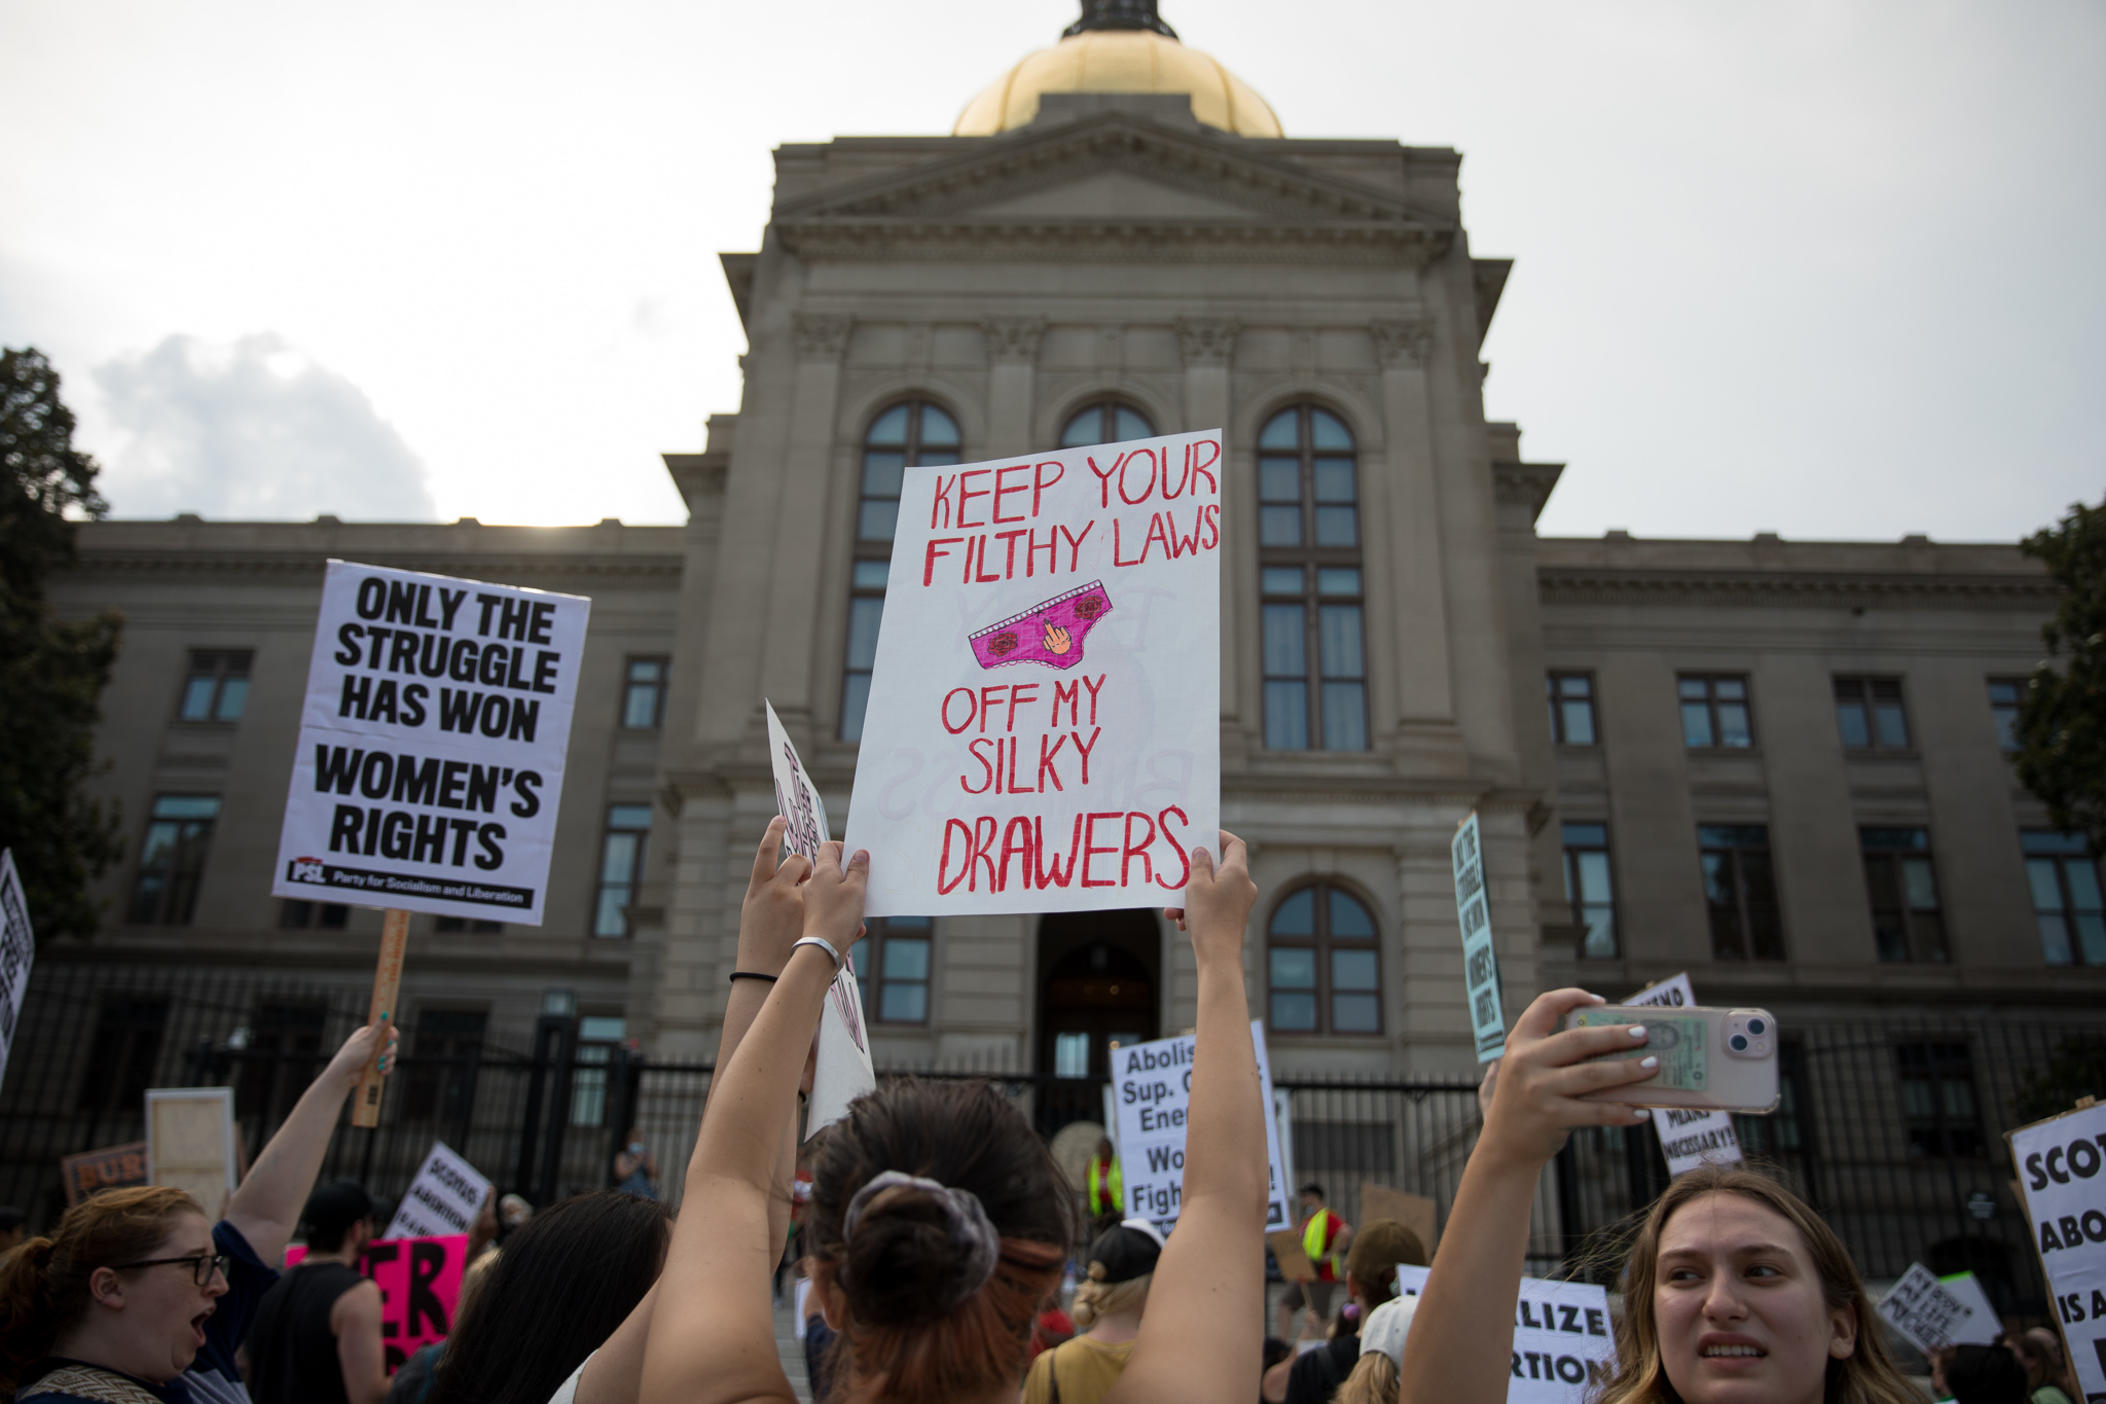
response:
M1514 1021L1497 1078L1487 1076L1491 1105L1485 1132L1470 1151L1455 1206L1441 1233L1432 1276L1419 1292L1405 1339L1400 1404L1504 1404L1508 1345L1521 1269L1529 1252L1529 1212L1544 1164L1573 1126L1636 1126L1645 1114L1613 1101L1582 1101L1626 1082L1645 1082L1657 1059L1609 1059L1630 1048L1645 1025L1601 1029L1556 1027L1569 1010L1601 1004L1584 989L1542 994ZM1499 1326L1504 1322L1504 1326Z

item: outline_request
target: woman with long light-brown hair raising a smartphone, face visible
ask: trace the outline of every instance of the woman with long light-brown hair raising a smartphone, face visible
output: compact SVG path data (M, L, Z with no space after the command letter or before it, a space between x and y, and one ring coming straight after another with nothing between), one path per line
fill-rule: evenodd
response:
M1481 1322L1514 1320L1529 1208L1573 1126L1632 1126L1643 1111L1590 1092L1645 1082L1647 1059L1601 1059L1643 1025L1556 1031L1584 989L1539 996L1514 1023L1485 1132L1455 1191L1403 1360L1403 1400L1506 1400L1508 1351ZM1708 1166L1647 1210L1624 1265L1617 1372L1598 1404L1921 1404L1868 1318L1849 1250L1796 1196L1750 1170Z

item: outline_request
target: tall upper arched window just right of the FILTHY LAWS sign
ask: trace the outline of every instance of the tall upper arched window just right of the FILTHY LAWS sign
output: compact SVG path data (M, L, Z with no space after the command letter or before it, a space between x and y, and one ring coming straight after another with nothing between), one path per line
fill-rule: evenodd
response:
M1270 749L1367 749L1358 501L1352 432L1337 415L1295 404L1266 421L1257 573Z

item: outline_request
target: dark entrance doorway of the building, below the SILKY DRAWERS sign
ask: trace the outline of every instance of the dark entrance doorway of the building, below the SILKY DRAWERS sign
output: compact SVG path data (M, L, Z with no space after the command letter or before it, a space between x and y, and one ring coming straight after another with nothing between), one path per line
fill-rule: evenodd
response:
M1104 1118L1112 1046L1156 1038L1154 911L1055 911L1038 922L1040 1130Z

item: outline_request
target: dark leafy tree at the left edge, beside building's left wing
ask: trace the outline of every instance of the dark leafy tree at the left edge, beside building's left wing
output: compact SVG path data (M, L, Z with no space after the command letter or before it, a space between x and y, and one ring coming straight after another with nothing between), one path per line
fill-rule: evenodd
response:
M0 352L0 848L15 850L38 939L95 930L95 878L118 857L116 806L95 800L95 724L122 619L59 621L44 581L74 562L80 518L110 503L74 448L59 373Z

